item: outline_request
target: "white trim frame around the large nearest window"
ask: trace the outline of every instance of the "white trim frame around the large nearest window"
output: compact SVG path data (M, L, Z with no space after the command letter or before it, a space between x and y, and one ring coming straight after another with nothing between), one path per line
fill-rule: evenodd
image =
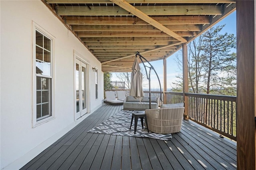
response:
M51 76L43 76L43 77L50 77L52 79L52 89L51 89L51 92L52 92L52 115L50 117L47 117L45 119L42 119L40 121L36 121L36 31L40 32L41 34L43 34L44 36L46 36L47 38L49 38L52 42L52 51L51 51ZM32 110L32 127L35 128L39 125L42 125L46 122L49 122L53 119L55 119L55 109L54 109L54 87L55 87L55 79L54 79L54 75L55 75L55 72L54 72L54 39L55 37L52 36L52 34L50 34L49 32L47 32L46 30L44 30L41 26L39 26L38 24L36 24L35 22L33 22L33 110Z

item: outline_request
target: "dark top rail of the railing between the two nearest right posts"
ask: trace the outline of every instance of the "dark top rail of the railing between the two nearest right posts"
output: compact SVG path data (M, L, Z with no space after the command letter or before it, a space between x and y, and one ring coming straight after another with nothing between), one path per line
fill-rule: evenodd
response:
M215 100L236 102L236 96L207 95L207 94L197 94L197 93L185 93L185 95L189 97L199 97L199 98L205 98L205 99L215 99Z

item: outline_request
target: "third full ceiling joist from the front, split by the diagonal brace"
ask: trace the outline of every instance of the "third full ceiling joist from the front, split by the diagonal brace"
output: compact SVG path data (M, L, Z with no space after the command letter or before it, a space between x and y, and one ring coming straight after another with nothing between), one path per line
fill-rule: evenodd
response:
M198 24L177 24L177 25L166 25L171 31L200 31L200 25ZM158 30L151 25L128 25L128 26L106 26L106 25L74 25L72 30L75 32L80 31L156 31Z

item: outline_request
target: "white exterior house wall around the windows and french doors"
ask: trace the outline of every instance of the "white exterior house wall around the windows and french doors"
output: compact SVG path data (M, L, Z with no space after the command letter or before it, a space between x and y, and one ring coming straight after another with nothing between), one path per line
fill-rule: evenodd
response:
M12 169L22 167L78 123L74 121L74 51L90 62L91 112L102 104L103 73L100 62L40 0L1 0L0 12L0 167ZM33 22L55 37L55 119L34 128ZM98 99L95 66L99 69Z

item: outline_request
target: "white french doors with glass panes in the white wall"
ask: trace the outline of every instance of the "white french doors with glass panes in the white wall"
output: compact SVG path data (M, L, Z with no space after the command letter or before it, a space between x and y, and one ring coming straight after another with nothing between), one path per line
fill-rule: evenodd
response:
M87 113L87 66L85 63L76 59L76 119Z

